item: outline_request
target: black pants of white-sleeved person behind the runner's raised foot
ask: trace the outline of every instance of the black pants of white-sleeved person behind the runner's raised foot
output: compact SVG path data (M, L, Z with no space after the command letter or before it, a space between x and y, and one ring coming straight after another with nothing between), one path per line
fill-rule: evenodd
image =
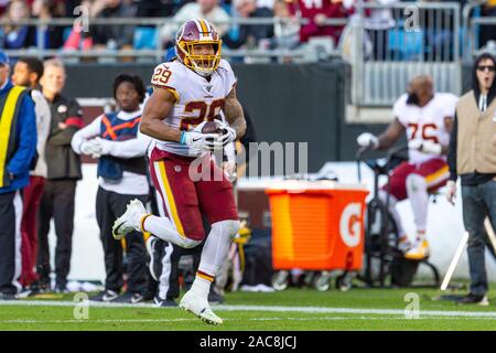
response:
M98 188L96 213L105 254L105 288L117 292L123 285L123 249L121 242L112 236L112 225L133 199L145 203L148 195L123 195ZM126 259L129 276L127 290L143 293L147 287L147 252L141 233L131 232L126 236Z

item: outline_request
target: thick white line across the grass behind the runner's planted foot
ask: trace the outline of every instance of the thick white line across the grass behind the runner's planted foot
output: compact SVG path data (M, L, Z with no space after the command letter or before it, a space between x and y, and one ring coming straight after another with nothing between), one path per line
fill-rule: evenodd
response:
M19 306L19 307L74 307L82 306L80 301L48 301L48 300L14 300L0 301L0 306ZM90 308L154 308L153 304L138 303L105 303L93 302ZM159 308L159 309L177 309L177 308ZM213 306L215 311L265 311L265 312L302 312L302 313L341 313L341 314L378 314L378 315L401 315L405 318L402 309L358 309L358 308L325 308L325 307L282 307L282 306ZM488 309L492 310L492 309ZM442 311L442 310L420 310L421 318L488 318L496 319L496 311ZM352 318L348 318L352 319ZM256 319L260 320L260 319Z

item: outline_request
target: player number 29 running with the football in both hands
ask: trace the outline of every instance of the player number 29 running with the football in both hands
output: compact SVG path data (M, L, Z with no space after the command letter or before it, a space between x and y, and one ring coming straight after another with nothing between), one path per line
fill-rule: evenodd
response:
M141 202L132 201L114 224L117 239L137 229L191 248L205 238L202 214L208 218L212 231L196 278L180 307L212 324L223 320L209 308L209 288L239 229L239 221L233 185L209 151L235 141L246 131L236 97L236 77L230 65L220 58L220 44L208 21L187 21L175 39L177 60L155 67L153 94L144 107L140 129L153 138L150 174L168 217L152 215ZM220 109L228 124L216 119ZM216 121L223 133L203 133L206 121ZM188 170L198 160L202 176L209 169L209 178L192 180Z

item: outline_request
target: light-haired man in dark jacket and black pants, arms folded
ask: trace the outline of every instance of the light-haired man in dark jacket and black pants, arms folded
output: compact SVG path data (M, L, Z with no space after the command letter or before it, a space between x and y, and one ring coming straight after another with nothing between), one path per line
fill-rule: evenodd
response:
M41 288L50 289L48 232L53 217L57 236L55 291L65 292L71 268L76 182L82 179L79 156L71 148L71 140L83 127L83 117L78 103L61 95L66 78L63 64L50 60L44 66L41 84L52 110L52 122L45 149L47 181L40 203L37 272Z

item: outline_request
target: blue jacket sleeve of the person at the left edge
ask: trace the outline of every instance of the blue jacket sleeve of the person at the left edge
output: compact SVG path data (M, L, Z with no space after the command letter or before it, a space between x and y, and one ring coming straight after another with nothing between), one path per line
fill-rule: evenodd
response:
M30 95L24 95L22 99L21 110L19 111L19 119L15 126L19 131L19 145L7 164L7 170L14 175L29 171L37 142L33 99Z

